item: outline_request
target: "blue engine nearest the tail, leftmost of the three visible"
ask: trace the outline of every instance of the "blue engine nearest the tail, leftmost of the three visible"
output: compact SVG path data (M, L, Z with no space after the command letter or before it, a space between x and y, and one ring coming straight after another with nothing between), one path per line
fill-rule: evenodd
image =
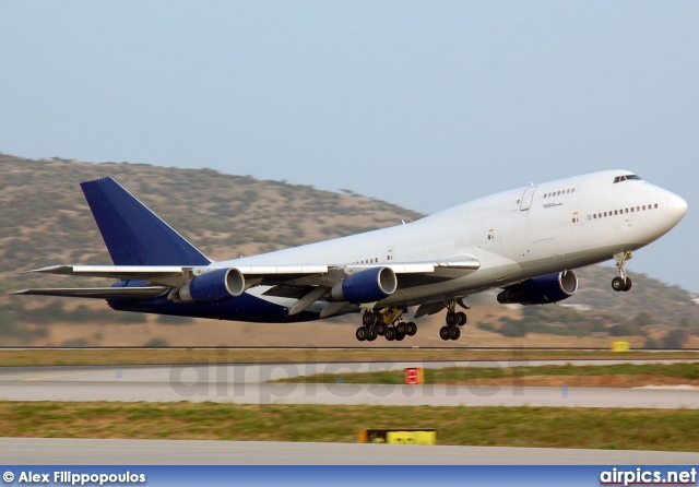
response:
M182 302L214 304L245 292L245 276L237 269L218 269L194 277L178 292Z

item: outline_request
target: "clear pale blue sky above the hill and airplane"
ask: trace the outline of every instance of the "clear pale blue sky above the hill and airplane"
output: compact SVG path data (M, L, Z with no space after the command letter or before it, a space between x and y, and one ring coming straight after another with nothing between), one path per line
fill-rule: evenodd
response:
M698 24L696 1L5 0L0 152L425 214L628 169L689 203L630 275L699 293Z

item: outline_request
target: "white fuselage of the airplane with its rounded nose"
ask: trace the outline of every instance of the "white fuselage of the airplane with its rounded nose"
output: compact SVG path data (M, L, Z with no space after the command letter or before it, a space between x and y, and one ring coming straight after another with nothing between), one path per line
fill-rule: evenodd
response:
M637 250L673 228L686 202L632 175L609 170L482 198L414 223L216 265L390 264L474 257L460 278L399 288L381 301L404 306L506 287ZM260 296L265 288L251 288ZM286 304L284 298L268 298ZM293 302L291 300L289 302Z

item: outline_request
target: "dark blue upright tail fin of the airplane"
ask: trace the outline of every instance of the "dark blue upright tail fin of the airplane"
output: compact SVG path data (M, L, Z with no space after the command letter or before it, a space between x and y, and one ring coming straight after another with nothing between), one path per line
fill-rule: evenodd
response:
M206 265L211 262L112 178L80 186L115 265Z

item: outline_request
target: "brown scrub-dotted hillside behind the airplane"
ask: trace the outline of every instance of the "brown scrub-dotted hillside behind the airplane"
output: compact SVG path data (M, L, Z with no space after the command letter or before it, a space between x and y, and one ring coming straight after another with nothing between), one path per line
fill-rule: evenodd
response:
M90 164L59 158L31 161L0 154L0 269L5 275L0 281L0 345L357 344L352 326L334 325L355 324L357 317L303 325L220 323L118 313L103 301L11 296L12 290L37 285L105 284L102 280L20 274L58 263L110 263L80 191L81 181L112 176L205 254L217 260L384 228L400 224L401 219L411 222L423 216L350 190L333 193L212 169ZM474 305L470 322L489 326L470 326L467 332L464 330L469 337L460 343L606 345L615 325L626 326L617 329L619 333L632 332L628 335L633 336L635 345L643 345L649 337L661 340L676 328L684 329L687 336L698 334L695 323L699 323L699 307L691 301L692 296L633 273L632 265L630 271L633 289L617 294L609 287L613 269L580 270L580 290L564 301L566 306L503 307L494 302L493 294L470 297L467 302ZM437 336L441 319L422 320L424 328L430 330L420 332L410 344L443 344ZM602 328L581 325L600 320L605 321ZM529 323L530 329L524 335L520 330L521 336L503 342L501 328L508 323L511 326L511 322ZM534 322L558 329L578 326L584 333L566 335L541 326L534 331ZM633 328L635 324L638 326ZM377 341L374 346L386 344Z

